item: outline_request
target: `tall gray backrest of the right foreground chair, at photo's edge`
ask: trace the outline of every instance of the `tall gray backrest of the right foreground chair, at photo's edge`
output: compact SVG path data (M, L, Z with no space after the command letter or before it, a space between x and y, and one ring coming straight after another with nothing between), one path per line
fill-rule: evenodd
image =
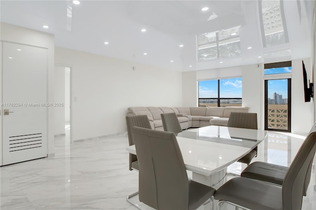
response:
M290 165L282 187L283 210L300 210L302 199L309 179L316 151L316 124L304 140L301 148Z

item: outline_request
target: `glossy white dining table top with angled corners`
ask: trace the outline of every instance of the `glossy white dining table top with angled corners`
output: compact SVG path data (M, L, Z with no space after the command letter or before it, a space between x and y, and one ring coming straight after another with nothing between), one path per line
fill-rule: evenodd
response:
M250 152L266 140L267 131L207 126L177 135L186 169L200 175L212 175ZM126 150L136 154L135 145Z

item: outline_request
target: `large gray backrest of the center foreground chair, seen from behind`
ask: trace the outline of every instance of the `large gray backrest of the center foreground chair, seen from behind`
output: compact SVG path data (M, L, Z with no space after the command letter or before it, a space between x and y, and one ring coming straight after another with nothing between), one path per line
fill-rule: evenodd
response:
M155 209L187 210L189 181L174 133L133 127L139 200Z

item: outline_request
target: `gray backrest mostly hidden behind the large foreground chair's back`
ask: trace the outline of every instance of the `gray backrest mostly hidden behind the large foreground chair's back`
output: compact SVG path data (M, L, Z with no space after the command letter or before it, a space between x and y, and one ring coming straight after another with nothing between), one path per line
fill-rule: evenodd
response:
M132 132L133 126L138 126L142 128L151 129L150 122L147 115L135 115L126 116L126 126L129 145L134 145L134 136ZM132 170L132 162L137 161L137 156L134 154L129 154L129 170Z

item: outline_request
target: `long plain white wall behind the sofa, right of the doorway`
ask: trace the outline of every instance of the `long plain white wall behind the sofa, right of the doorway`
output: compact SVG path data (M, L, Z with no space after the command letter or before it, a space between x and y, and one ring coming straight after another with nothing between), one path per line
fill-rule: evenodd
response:
M61 47L55 63L72 67L73 140L126 131L129 106L182 106L182 72Z

